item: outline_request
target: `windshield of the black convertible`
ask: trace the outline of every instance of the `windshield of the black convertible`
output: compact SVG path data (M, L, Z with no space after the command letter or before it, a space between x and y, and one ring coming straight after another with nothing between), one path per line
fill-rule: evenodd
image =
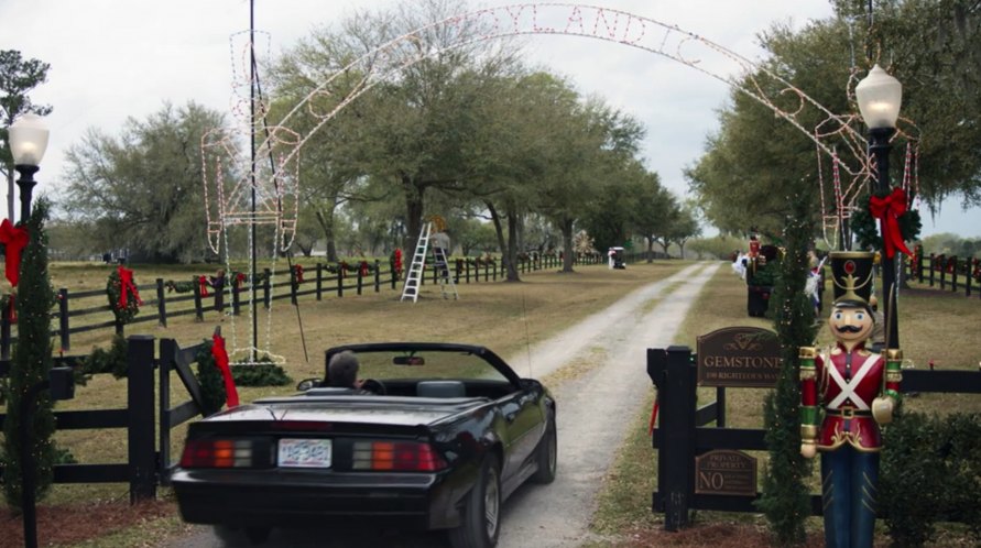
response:
M359 379L508 381L480 355L460 350L384 350L352 352Z

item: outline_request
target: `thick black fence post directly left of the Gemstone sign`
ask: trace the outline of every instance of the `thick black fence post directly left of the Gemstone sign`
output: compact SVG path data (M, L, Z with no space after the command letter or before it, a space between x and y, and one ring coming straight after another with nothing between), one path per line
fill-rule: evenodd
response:
M647 350L647 374L657 386L657 496L665 530L688 525L695 491L695 368L688 347ZM652 440L653 442L653 440Z

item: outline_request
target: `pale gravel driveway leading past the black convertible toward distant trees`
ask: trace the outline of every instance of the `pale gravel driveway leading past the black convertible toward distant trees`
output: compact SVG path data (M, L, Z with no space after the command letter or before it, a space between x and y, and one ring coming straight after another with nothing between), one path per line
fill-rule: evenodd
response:
M702 285L721 263L697 263L642 287L545 343L508 361L522 376L543 377L566 365L586 371L551 386L558 404L558 475L551 485L525 485L504 504L499 547L575 547L589 535L596 494L625 434L653 390L646 349L666 348ZM671 289L671 291L668 291ZM598 404L601 402L601 404ZM312 524L315 525L315 524ZM242 539L244 540L244 539ZM236 542L238 544L238 542ZM225 546L199 527L170 547ZM435 547L443 535L399 531L338 534L328 529L274 530L265 546Z

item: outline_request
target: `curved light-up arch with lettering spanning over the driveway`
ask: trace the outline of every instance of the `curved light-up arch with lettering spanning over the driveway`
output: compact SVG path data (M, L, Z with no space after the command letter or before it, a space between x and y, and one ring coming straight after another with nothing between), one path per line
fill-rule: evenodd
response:
M424 43L421 39L427 34L438 34L444 45L421 47ZM832 164L850 179L838 193L839 200L846 205L850 206L854 201L861 190L861 183L870 176L871 166L865 154L865 139L852 128L857 116L840 116L829 111L766 67L677 25L615 9L573 3L523 3L482 9L430 23L391 40L335 72L304 97L279 124L271 128L263 127L263 132L269 136L261 149L275 149L280 152L276 155L280 173L295 173L299 151L307 140L340 110L377 84L395 77L408 66L454 47L506 36L542 34L582 36L643 50L682 63L752 97L813 140L819 154L831 157ZM358 75L358 80L347 86L349 90L344 97L334 97L338 80L349 78L351 75ZM334 107L328 111L318 112L315 99L324 96L333 99ZM306 112L314 120L312 127L309 119L304 123L309 127L305 133L291 130L291 124L301 112ZM800 121L805 118L820 119L822 122L816 128L807 128ZM257 120L252 123L257 127L264 123L264 109L260 109ZM283 139L284 135L288 135L290 139ZM835 150L829 145L831 138ZM227 152L235 146L227 142L206 142L205 147L216 147ZM206 166L206 179L207 173L209 169ZM220 175L216 174L212 180L217 191L211 194L222 197L241 197L244 188L263 185L263 182L253 183L251 173L243 173L235 183L219 179ZM284 187L281 182L265 182L266 185L269 183L274 183L275 188L265 190L260 188L260 195L279 196L279 199L282 199ZM291 178L288 183L292 185L291 189L295 191L298 182ZM222 186L231 188L222 189ZM228 216L227 218L248 220L248 216L242 216L240 211L229 207L229 204L221 205L220 201L220 211L216 211L218 213L216 217ZM271 211L272 208L268 210ZM208 217L209 231L217 233L211 229L220 228L222 220L212 219L210 209ZM295 222L285 226L287 230L293 230Z

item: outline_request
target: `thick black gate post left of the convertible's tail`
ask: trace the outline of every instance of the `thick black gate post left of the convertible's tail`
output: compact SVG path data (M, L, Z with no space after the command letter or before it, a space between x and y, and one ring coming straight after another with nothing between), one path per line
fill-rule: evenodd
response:
M156 496L153 409L153 336L127 339L127 408L130 504Z

